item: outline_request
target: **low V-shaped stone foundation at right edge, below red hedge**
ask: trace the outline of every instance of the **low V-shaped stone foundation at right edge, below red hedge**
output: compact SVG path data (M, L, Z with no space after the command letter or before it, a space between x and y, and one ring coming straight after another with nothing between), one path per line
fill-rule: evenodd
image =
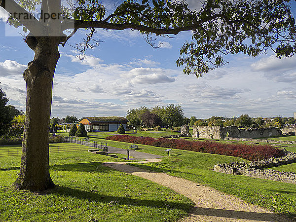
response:
M254 178L280 181L291 184L296 184L296 173L293 172L280 172L277 170L263 170L264 168L282 166L290 163L296 162L296 153L289 152L287 150L286 155L279 158L270 158L265 160L258 160L251 163L223 163L217 164L214 167L214 171L234 174L234 175L244 175Z

